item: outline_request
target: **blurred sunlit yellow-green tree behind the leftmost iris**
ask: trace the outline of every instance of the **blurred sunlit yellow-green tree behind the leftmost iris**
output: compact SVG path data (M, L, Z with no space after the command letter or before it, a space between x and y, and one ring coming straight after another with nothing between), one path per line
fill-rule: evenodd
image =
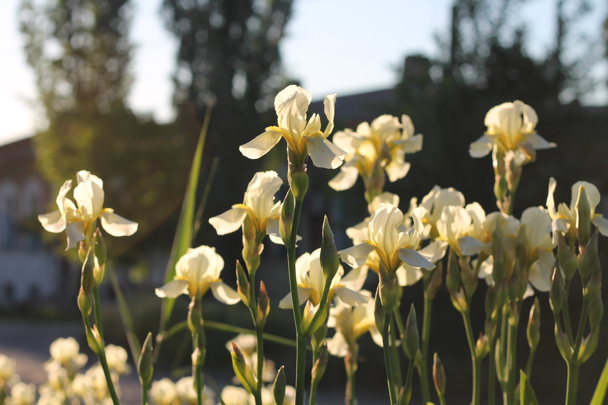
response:
M126 105L130 12L129 0L23 0L19 20L47 123L35 137L41 171L57 185L97 174L106 205L139 222L142 238L179 205L196 129Z

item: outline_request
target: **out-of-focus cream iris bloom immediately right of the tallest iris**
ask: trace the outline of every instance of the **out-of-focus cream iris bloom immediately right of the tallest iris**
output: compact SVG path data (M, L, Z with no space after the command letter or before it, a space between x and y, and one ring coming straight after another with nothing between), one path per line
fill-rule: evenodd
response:
M337 191L351 188L358 175L367 187L378 171L385 171L390 182L402 179L410 169L405 155L422 149L423 136L413 133L410 117L402 115L399 123L398 117L386 114L371 121L371 125L367 122L359 124L356 131L345 129L336 132L333 141L347 155L344 158L346 163L330 181L330 187Z

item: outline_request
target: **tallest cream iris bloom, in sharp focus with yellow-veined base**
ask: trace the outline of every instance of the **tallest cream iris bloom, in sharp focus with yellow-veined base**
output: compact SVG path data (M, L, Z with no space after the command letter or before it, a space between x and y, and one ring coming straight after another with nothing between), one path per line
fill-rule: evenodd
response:
M241 145L239 147L241 153L250 159L260 158L283 137L287 141L288 148L302 162L306 155L310 155L313 164L319 168L335 169L342 165L342 158L346 152L327 140L334 128L336 95L328 95L323 101L328 119L325 131L321 131L319 114L311 115L308 122L306 121L306 112L311 101L311 94L302 87L295 84L285 87L274 99L278 125L269 126L266 132Z

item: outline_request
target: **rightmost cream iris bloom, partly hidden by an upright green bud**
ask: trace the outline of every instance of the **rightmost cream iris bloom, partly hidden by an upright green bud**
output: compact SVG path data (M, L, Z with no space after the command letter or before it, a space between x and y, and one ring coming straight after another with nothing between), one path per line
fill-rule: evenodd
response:
M553 193L555 192L557 186L558 182L551 177L549 180L549 193L547 196L547 211L553 220L551 223L551 229L553 230L554 235L560 231L564 233L576 232L576 202L578 201L579 189L582 186L585 189L585 194L587 194L587 201L589 201L591 222L593 225L598 227L599 233L603 234L604 236L608 236L608 219L595 212L595 209L599 204L600 197L599 190L595 185L589 182L574 183L572 185L570 206L568 207L565 205L565 203L560 203L556 209Z

